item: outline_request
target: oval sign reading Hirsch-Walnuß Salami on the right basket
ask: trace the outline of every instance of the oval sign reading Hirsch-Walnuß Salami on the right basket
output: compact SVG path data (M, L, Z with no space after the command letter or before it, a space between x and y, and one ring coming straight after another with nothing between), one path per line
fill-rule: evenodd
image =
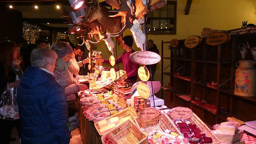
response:
M170 110L172 119L189 119L193 116L193 111L186 107L176 107Z

